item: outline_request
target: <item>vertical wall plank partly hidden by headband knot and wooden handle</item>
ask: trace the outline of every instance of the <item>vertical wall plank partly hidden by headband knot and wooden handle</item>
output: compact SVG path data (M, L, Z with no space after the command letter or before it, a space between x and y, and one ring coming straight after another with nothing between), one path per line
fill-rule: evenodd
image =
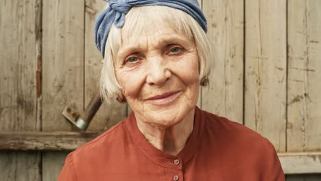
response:
M106 8L105 1L86 0L85 7L85 73L84 73L84 90L85 105L99 93L100 73L102 71L102 55L95 46L94 40L94 23L99 12ZM102 104L101 108L95 115L88 130L107 130L126 117L126 104L119 104L116 99L114 102Z

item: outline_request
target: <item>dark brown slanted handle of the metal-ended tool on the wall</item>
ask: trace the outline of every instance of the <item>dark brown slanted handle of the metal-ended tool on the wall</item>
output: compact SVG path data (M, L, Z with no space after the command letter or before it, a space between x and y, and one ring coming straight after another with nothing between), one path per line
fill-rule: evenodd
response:
M91 120L95 116L96 112L99 110L100 106L102 105L102 99L97 93L93 99L91 99L91 102L89 102L88 106L86 106L86 109L80 117L82 120L86 121L88 124L91 123Z

